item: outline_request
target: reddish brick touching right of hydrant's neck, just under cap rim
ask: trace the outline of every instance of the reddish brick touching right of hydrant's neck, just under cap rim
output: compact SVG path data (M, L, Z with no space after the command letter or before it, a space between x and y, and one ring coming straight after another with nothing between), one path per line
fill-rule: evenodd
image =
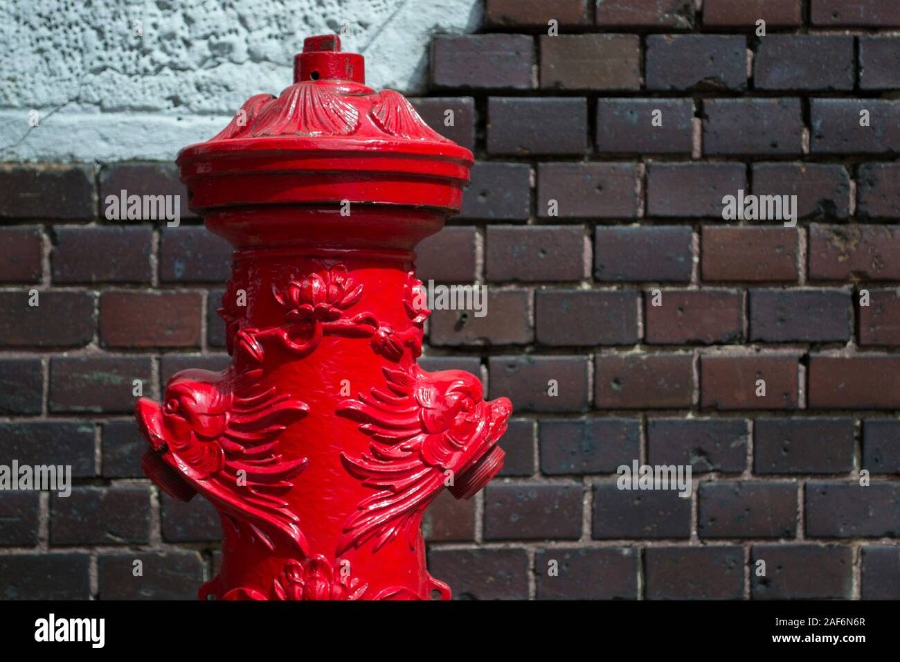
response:
M475 280L473 226L447 226L416 246L416 276L422 282L473 283Z

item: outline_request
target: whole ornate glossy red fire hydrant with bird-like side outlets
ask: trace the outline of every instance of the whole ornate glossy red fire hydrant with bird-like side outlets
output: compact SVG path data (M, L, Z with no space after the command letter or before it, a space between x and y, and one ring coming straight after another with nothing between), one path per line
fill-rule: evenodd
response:
M178 157L191 208L235 248L232 363L178 373L137 417L147 476L220 512L202 599L449 598L422 514L503 463L509 400L416 362L429 312L412 249L459 210L472 153L364 80L361 55L311 37L292 86Z

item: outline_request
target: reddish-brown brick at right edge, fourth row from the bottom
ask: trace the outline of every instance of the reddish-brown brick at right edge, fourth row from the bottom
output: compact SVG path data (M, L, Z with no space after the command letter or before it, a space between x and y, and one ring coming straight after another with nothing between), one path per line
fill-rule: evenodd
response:
M809 407L900 408L900 356L810 357Z

